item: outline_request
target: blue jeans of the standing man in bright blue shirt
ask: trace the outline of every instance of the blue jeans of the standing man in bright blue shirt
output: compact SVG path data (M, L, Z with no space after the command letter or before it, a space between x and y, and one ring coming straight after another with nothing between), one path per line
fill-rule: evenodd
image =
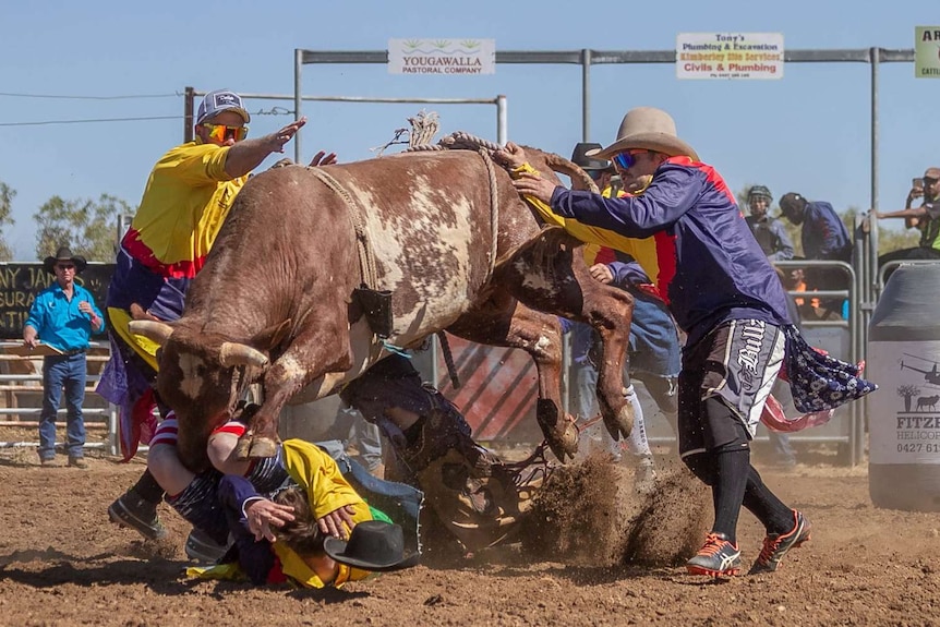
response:
M43 360L43 413L39 415L39 459L56 457L56 413L65 390L68 408L67 442L69 457L82 457L85 445L85 353L47 357Z

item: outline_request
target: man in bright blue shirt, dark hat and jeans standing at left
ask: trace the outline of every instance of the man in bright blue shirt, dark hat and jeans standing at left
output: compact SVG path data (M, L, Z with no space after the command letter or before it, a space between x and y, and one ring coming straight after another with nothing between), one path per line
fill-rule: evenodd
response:
M105 318L95 305L92 292L75 282L85 269L84 257L73 255L65 246L56 256L46 257L43 266L56 276L56 282L39 292L23 327L23 343L36 348L41 342L56 349L43 359L43 413L39 418L39 460L53 466L56 459L56 414L65 389L68 413L69 466L88 468L84 459L85 352L92 333L105 331Z

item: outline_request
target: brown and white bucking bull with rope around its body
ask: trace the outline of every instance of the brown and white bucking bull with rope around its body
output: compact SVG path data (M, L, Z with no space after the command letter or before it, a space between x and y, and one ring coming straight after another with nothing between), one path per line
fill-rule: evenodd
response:
M554 166L590 184L556 155L527 155L543 176L554 178ZM632 427L620 378L632 300L592 279L579 246L561 229L540 230L508 173L471 150L275 168L239 194L183 316L132 328L162 343L156 387L193 469L205 467L209 432L252 381L263 383L264 402L240 451L267 457L285 403L333 394L387 354L351 298L363 282L391 292L390 345L413 347L446 329L529 352L537 418L564 460L577 429L562 411L553 314L598 329L601 412L615 437Z

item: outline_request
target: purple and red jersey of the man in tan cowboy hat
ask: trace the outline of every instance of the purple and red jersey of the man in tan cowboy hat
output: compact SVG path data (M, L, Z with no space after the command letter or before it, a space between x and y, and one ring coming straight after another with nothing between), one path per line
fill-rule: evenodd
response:
M711 166L672 157L640 195L606 198L559 186L551 205L586 225L654 238L658 287L687 347L731 319L792 324L776 272Z

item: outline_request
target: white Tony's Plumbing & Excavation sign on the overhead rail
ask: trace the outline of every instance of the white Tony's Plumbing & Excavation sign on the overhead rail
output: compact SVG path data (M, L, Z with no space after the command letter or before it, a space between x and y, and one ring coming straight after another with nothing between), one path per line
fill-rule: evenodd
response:
M679 33L678 79L783 79L782 33Z

